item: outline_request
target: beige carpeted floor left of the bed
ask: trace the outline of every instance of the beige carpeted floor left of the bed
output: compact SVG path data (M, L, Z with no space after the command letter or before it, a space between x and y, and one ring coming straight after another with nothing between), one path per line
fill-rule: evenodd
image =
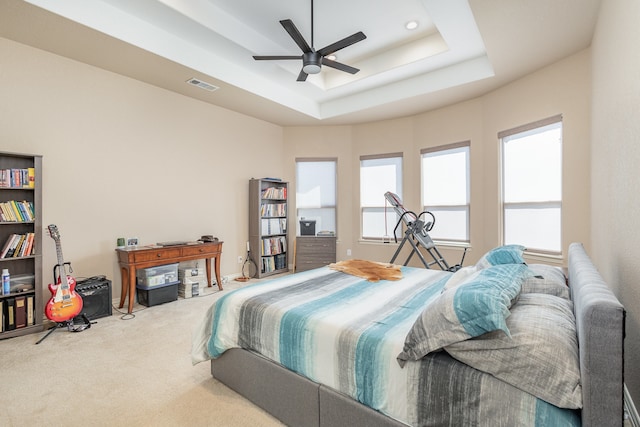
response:
M2 426L280 426L192 366L191 331L225 291L117 312L91 328L0 341ZM126 307L126 306L125 306ZM126 311L126 310L125 310Z

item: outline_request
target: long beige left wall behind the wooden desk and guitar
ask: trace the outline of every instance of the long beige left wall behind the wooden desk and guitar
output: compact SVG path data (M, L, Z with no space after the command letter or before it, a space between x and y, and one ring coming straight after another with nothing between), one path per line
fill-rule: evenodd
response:
M6 39L0 57L0 150L44 156L43 224L76 277L105 274L119 296L119 236L213 234L222 274L240 272L248 180L281 175L281 127Z

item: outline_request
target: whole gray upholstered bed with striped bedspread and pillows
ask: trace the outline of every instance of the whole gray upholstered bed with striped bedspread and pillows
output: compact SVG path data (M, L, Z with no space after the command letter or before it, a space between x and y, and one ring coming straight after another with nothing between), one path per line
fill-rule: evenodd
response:
M213 304L192 361L291 426L622 425L624 308L581 244L568 286L523 249L258 282Z

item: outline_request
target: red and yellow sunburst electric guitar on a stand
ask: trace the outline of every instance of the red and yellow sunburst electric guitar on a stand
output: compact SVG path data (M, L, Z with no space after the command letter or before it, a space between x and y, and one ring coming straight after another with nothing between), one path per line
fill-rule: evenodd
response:
M47 302L44 313L47 319L60 323L73 319L82 311L82 297L75 291L76 279L67 275L58 227L51 224L48 228L49 235L56 242L60 277L58 277L57 284L51 283L49 285L52 297Z

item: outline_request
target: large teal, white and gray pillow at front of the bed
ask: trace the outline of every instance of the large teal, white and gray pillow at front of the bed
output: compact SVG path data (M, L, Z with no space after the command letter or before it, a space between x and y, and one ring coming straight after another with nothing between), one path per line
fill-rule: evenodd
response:
M491 331L510 336L506 318L522 283L533 273L525 264L485 268L456 287L446 289L425 307L407 334L400 366L432 351Z

